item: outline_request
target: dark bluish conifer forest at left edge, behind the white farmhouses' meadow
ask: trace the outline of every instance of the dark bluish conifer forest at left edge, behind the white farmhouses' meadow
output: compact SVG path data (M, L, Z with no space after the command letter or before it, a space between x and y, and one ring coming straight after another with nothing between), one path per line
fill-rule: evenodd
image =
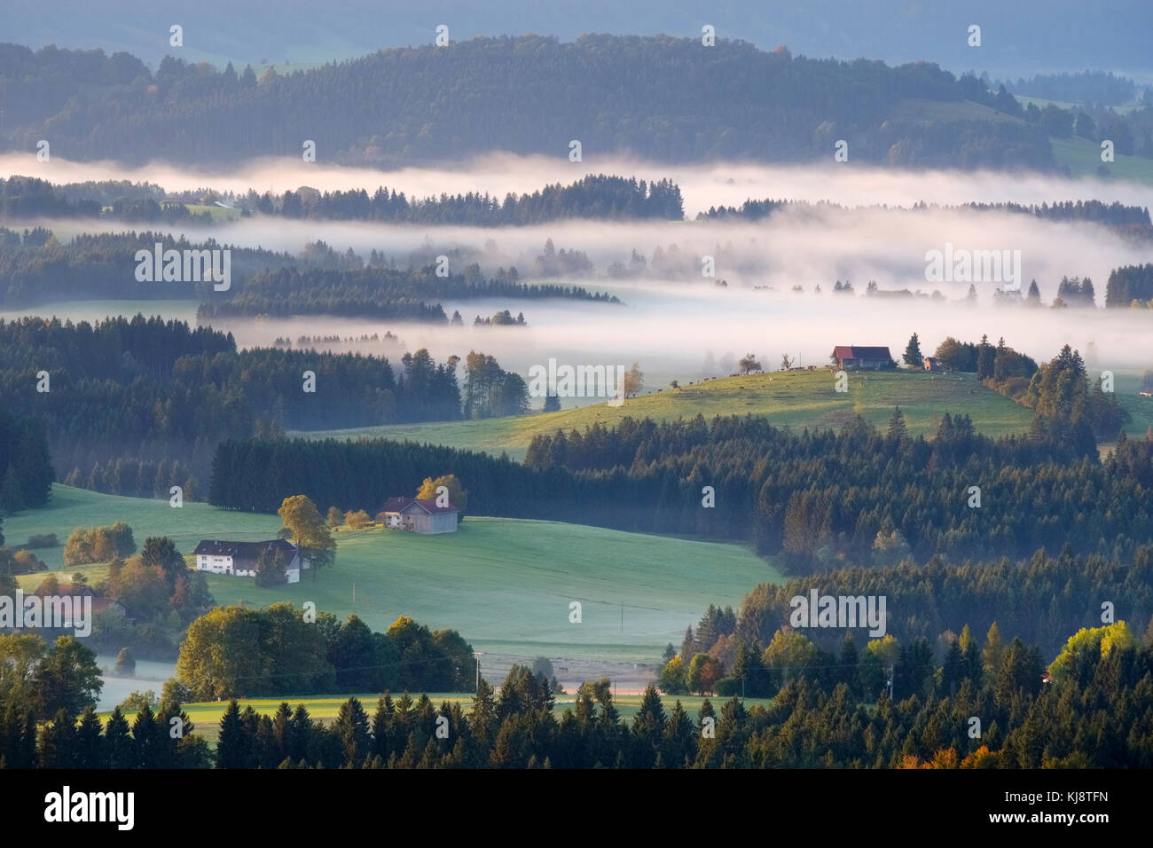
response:
M491 357L469 353L466 387L480 378L476 358L500 391L474 392L467 414L523 410L523 381ZM238 351L229 333L157 316L0 320L0 393L10 411L0 413L0 498L9 511L42 505L55 473L69 485L144 497L168 497L180 486L195 500L224 438L460 419L459 361L438 363L421 348L394 370L385 358L352 353ZM37 390L42 372L46 391Z

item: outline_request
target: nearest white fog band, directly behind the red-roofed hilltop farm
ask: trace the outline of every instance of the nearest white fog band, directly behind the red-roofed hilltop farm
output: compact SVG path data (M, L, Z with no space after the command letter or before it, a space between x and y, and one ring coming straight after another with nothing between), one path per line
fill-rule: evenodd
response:
M440 361L464 357L470 350L483 351L522 375L534 365L547 366L550 358L559 365L627 367L638 362L648 388L668 385L672 378L685 382L731 373L734 362L749 352L768 370L781 367L784 353L802 366L823 366L838 344L888 345L899 360L914 331L927 355L948 336L977 342L987 333L994 343L1004 337L1009 345L1039 361L1070 344L1093 368L1125 373L1153 367L1147 313L970 308L959 301L898 307L865 297L718 290L700 284L669 284L661 291L635 287L624 293L630 295L628 303L620 307L521 302L530 324L527 328L432 327L336 317L227 318L213 324L234 333L243 346L269 345L278 337L383 336L391 330L406 350L427 347ZM466 324L476 314L483 316L507 306L503 299L445 303L449 312L459 308ZM318 346L389 355L395 361L397 348L384 343ZM707 368L710 354L716 366Z

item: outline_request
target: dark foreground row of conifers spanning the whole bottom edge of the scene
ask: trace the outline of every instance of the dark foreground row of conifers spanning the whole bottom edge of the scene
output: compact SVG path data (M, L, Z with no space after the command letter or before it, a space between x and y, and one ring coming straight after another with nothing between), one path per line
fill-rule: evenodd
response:
M1064 674L1042 683L1034 647L1013 639L978 653L967 633L940 665L922 643L890 643L895 697L862 703L841 668L828 691L808 675L769 704L706 699L693 715L645 690L632 722L611 681L585 683L558 718L549 681L514 666L499 693L482 680L470 710L427 695L384 692L370 711L356 697L331 725L303 704L274 713L229 701L214 752L191 734L179 700L144 706L131 735L118 707L100 733L91 706L59 711L37 733L21 705L0 713L8 767L217 768L1147 768L1153 742L1153 647L1114 629L1069 640ZM851 640L846 640L851 646ZM846 647L846 650L852 650ZM995 673L986 673L986 663ZM995 665L992 665L995 663ZM1055 663L1056 665L1056 663ZM899 683L898 683L899 681ZM898 685L900 689L898 689ZM899 696L898 696L899 693ZM977 719L974 725L973 719ZM186 735L163 733L173 720Z

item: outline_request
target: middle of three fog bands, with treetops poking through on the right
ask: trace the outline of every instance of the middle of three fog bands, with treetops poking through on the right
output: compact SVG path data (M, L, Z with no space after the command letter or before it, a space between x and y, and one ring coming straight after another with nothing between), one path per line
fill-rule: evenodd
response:
M123 231L118 222L42 222L59 238L77 232ZM143 227L138 227L143 228ZM209 237L236 247L263 247L299 254L312 241L324 241L337 253L348 248L362 257L378 250L399 267L423 265L438 254L450 256L450 268L477 262L491 272L515 265L525 282L542 279L537 257L551 239L558 250L588 255L597 278L582 280L597 291L621 283L604 272L612 263L631 265L635 249L646 262L660 247L668 261L670 247L679 252L678 268L686 278L702 279L702 258L711 256L716 280L730 287L768 286L791 290L800 285L830 288L852 282L862 292L869 280L881 288L910 288L929 293L964 294L967 283L936 283L927 276L926 254L962 250L1020 252L1019 275L1005 268L1000 280L975 280L979 294L994 288L1028 287L1035 279L1045 303L1057 294L1063 276L1092 278L1103 305L1109 272L1117 267L1153 261L1153 243L1122 238L1108 227L1088 223L1057 223L1030 215L970 210L784 210L761 222L553 222L526 227L386 225L366 222L318 222L255 217L227 227L182 226L173 232L193 241ZM1010 257L1012 254L1010 254ZM645 265L647 269L647 264ZM676 286L663 285L672 293ZM532 302L532 301L529 301ZM897 308L892 306L890 308Z

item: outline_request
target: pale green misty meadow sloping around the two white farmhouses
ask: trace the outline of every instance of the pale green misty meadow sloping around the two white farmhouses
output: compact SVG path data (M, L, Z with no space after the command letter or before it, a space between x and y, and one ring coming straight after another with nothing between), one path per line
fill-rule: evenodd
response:
M33 533L127 521L137 546L172 536L188 557L201 539L254 541L280 528L276 516L167 501L116 497L53 487L51 504L7 518L9 545ZM337 562L297 584L257 587L251 578L209 575L218 603L266 606L311 601L340 618L356 613L374 630L406 615L432 629L452 628L477 651L654 663L668 643L709 603L739 606L759 583L782 580L770 562L739 545L625 533L556 521L468 517L459 532L424 536L400 531L340 530ZM67 581L95 583L106 565L68 569L61 548L37 549ZM18 578L35 590L44 573ZM571 621L579 603L580 622Z

